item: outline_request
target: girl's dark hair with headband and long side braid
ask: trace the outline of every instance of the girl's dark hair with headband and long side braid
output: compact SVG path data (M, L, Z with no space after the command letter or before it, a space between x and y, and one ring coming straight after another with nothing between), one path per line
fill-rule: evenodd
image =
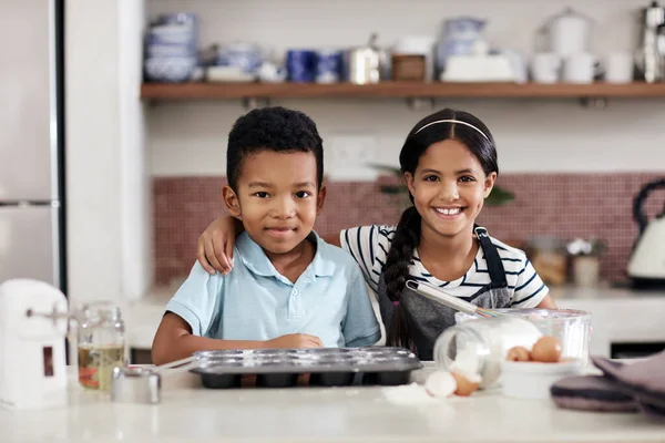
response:
M438 122L440 120L454 120L462 123ZM399 153L402 174L407 172L415 174L418 162L427 148L444 140L457 140L467 146L480 162L485 175L499 174L497 148L490 130L474 115L451 109L436 112L413 126ZM409 198L413 203L413 196L409 194ZM409 278L409 265L413 259L413 250L420 244L420 222L421 217L416 206L411 206L402 213L383 267L387 295L396 303L393 317L387 328L388 346L413 349L409 321L399 299Z

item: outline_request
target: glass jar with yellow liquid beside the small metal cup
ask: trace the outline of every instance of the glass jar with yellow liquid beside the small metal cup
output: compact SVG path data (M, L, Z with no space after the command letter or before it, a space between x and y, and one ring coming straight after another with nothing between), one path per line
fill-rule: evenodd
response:
M127 365L120 308L108 301L92 302L78 317L79 383L108 391L113 369Z

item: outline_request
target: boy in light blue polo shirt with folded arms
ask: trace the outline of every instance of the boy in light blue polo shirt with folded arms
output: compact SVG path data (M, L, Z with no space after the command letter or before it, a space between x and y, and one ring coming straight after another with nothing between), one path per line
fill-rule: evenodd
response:
M166 305L152 347L155 364L200 350L361 347L380 330L356 261L314 233L325 188L314 122L284 107L234 124L222 190L245 231L233 270L198 262Z

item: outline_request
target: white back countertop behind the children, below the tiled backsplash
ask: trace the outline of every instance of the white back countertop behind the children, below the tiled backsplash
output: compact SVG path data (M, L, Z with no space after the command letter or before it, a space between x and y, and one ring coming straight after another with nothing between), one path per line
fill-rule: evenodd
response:
M151 290L125 309L127 341L131 348L150 349L166 302L176 287ZM592 313L590 352L610 356L613 342L665 342L665 290L634 291L625 288L551 288L560 308Z

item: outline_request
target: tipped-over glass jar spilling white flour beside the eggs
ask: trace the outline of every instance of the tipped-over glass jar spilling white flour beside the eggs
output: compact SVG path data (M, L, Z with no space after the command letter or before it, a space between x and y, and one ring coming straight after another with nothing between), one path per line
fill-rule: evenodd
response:
M515 346L531 349L542 337L529 320L504 316L464 321L450 327L434 342L434 362L447 371L481 377L480 388L489 388L501 375L501 361Z

